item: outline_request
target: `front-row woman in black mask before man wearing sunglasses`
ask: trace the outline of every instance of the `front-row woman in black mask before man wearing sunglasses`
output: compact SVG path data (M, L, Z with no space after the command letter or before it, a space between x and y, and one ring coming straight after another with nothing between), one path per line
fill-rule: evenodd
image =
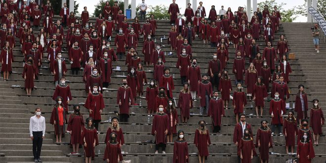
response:
M255 145L253 144L253 138L251 132L248 129L244 129L244 136L240 140L238 156L240 155L241 163L251 163L253 156L256 156Z

